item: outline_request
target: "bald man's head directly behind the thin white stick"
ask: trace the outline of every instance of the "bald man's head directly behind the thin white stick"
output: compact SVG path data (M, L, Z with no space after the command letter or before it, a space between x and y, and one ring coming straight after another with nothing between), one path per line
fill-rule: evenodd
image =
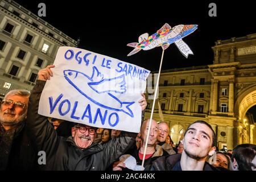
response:
M142 146L146 144L147 131L149 130L149 124L150 124L150 119L146 119L141 126ZM154 119L152 119L147 146L148 147L155 146L157 137L158 137L158 123Z

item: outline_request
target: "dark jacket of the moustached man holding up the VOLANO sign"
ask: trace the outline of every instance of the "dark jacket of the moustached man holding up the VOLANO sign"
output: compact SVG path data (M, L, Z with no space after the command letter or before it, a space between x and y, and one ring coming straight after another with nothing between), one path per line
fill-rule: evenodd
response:
M133 144L137 134L123 132L121 137L105 144L92 143L81 150L72 137L57 137L46 117L38 114L39 100L45 81L36 81L28 106L27 128L38 150L46 152L44 170L105 170Z

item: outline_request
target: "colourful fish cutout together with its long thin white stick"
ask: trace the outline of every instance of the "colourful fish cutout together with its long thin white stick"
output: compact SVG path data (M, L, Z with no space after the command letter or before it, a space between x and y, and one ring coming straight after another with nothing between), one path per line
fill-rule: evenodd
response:
M193 52L188 47L188 45L183 42L182 38L184 38L185 36L188 36L189 34L192 34L192 32L194 32L196 29L197 29L197 24L191 24L191 25L179 24L171 28L171 26L168 23L166 23L162 28L160 28L155 34L152 34L151 36L148 36L147 33L139 36L139 43L127 44L127 46L134 47L133 51L131 51L127 56L134 55L135 53L141 51L141 49L143 49L144 51L150 50L155 47L162 47L163 49L162 57L160 60L158 79L156 81L154 101L153 101L151 115L150 115L150 123L148 126L149 129L147 131L146 145L144 148L144 154L142 159L142 167L144 166L144 160L146 156L148 137L150 134L150 127L151 127L151 122L152 122L152 117L153 117L154 107L155 107L156 92L158 90L159 78L160 78L160 73L162 69L164 50L167 49L170 46L170 44L175 43L177 48L180 50L181 53L183 53L185 57L188 57L189 54L193 54Z

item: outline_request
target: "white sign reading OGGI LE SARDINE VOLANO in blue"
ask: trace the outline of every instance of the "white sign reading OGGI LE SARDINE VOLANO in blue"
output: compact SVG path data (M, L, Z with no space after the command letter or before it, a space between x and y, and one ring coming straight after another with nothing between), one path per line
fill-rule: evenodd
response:
M74 47L60 47L38 113L107 129L138 133L141 93L150 71Z

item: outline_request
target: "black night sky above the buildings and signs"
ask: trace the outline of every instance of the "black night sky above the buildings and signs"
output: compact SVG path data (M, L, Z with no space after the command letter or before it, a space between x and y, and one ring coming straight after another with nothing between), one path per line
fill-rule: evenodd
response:
M46 3L46 17L41 17L64 34L77 40L79 48L139 65L150 71L159 68L162 48L127 54L127 43L138 42L164 23L198 24L198 29L183 40L193 51L186 59L172 44L164 52L163 69L191 67L213 63L212 47L217 40L256 33L252 1L24 1L20 5L38 14L38 4ZM59 2L59 3L58 3ZM138 3L139 2L139 3ZM217 17L210 17L209 3L217 5Z

